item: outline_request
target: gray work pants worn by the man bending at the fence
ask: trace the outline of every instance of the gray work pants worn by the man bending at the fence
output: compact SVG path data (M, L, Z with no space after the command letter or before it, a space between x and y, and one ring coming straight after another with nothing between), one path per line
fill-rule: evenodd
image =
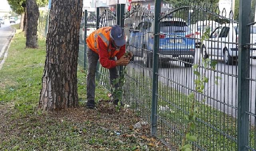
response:
M88 57L88 72L87 72L87 101L95 99L95 75L97 70L97 61L99 60L99 55L93 50L87 48ZM111 58L111 60L116 60L116 57ZM117 67L109 69L109 78L112 82L113 79L119 77ZM119 84L115 85L115 89L119 87Z

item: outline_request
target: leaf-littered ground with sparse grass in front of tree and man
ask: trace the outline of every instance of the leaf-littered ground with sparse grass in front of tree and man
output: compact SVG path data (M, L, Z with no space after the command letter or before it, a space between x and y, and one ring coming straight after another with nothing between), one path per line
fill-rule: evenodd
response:
M4 141L4 147L0 144L0 150L17 145L25 150L170 150L151 137L150 125L128 108L117 111L109 101L102 100L96 107L9 119L1 126L4 135L0 142Z

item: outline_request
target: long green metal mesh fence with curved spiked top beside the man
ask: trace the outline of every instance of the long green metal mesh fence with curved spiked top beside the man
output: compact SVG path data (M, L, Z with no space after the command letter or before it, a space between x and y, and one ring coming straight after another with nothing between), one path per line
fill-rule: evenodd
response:
M91 17L85 11L79 64L87 68L82 34L119 24L134 54L125 68L123 101L151 124L153 136L177 149L195 102L194 150L256 150L256 26L248 6L250 0L240 1L239 22L233 12L200 3L167 12L160 12L161 1L155 12L140 6L126 12L122 4L116 12L97 8ZM110 91L108 70L99 64L97 73Z

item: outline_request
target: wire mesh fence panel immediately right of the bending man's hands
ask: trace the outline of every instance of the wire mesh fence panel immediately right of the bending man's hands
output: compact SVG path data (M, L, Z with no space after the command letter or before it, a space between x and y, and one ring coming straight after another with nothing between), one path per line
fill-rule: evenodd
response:
M133 60L125 68L124 101L150 121L152 100L153 12L135 6L124 16L127 51Z

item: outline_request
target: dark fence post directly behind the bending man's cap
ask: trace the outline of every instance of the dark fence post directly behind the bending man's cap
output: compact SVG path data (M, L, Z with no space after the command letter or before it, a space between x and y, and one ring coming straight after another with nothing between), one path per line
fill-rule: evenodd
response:
M125 14L125 4L117 4L117 25L120 25L122 28L125 26L125 20L123 19L123 15ZM123 29L124 30L124 29ZM118 66L119 75L123 71L123 66Z

